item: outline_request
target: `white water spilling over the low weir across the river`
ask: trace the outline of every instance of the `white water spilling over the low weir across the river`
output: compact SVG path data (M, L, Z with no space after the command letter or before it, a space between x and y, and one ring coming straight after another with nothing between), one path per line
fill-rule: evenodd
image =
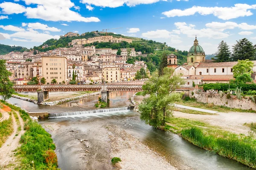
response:
M96 109L91 111L76 111L76 112L62 112L62 113L50 113L49 118L56 117L73 117L73 116L101 116L102 113L111 113L111 112L122 112L129 111L131 107L120 107L120 108L108 108L108 109Z

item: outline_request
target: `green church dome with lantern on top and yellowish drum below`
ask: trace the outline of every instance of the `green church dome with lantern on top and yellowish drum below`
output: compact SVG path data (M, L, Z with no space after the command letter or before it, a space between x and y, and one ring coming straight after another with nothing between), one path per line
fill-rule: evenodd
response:
M187 64L196 62L205 62L205 53L203 48L198 44L198 40L195 37L194 45L189 49L187 55Z

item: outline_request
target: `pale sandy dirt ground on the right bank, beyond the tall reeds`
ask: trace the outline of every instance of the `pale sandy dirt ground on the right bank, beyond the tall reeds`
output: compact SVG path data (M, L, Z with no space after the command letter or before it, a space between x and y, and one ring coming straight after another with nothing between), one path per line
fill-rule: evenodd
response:
M213 126L222 127L224 130L228 130L236 134L242 133L245 135L249 135L251 130L249 127L244 126L244 123L256 122L256 113L218 112L215 115L200 115L174 111L173 115L187 119L199 120Z

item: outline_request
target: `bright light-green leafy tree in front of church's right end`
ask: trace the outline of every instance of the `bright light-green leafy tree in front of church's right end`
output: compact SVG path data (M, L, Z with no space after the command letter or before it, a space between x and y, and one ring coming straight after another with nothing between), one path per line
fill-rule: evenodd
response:
M241 76L243 74L252 74L253 73L253 62L246 60L238 60L238 63L233 66L233 75L234 78Z

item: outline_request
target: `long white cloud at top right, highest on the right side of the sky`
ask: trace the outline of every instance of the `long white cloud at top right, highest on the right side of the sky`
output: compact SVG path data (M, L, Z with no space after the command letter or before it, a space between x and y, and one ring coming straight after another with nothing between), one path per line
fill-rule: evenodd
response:
M193 6L192 8L187 8L185 10L180 9L172 9L170 11L165 11L162 14L167 17L181 17L181 16L189 16L194 15L198 12L201 15L209 15L213 14L215 17L218 17L222 20L230 20L233 18L250 16L253 13L248 9L255 9L256 5L247 5L237 3L232 7L201 7L201 6Z

